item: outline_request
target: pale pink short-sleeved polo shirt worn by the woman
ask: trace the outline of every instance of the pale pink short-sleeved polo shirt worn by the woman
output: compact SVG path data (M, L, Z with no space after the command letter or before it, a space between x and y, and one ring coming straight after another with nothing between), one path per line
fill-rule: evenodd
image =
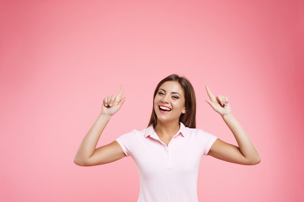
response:
M179 123L180 129L168 147L152 125L141 131L134 129L116 139L137 166L140 180L137 202L198 202L200 161L217 137Z

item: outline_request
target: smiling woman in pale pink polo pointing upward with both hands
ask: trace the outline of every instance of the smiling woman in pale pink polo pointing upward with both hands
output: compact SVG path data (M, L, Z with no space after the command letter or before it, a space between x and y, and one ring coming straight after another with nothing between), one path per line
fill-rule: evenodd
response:
M218 112L234 134L238 147L196 129L196 98L191 83L170 75L156 86L148 127L123 134L110 144L96 145L106 124L122 106L123 85L118 96L103 100L101 113L81 142L74 162L95 166L131 155L135 160L140 192L137 202L198 202L197 176L201 157L255 165L260 155L232 115L226 96L214 97L208 86L209 105Z

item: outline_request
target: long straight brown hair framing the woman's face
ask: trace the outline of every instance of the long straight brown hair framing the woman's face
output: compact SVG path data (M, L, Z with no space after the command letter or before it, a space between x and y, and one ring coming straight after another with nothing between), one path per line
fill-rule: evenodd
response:
M154 91L154 96L153 96L153 107L152 107L152 114L151 118L148 124L148 127L150 125L153 125L153 127L156 126L157 124L157 116L154 110L154 98L156 96L156 93L158 92L159 87L165 83L166 81L177 81L181 84L183 90L184 90L184 95L185 95L185 108L186 108L186 113L181 114L179 118L179 122L182 122L186 127L189 128L195 128L196 127L196 98L195 98L195 93L194 89L190 83L190 81L184 77L180 77L177 74L171 74L168 77L164 78L161 80Z

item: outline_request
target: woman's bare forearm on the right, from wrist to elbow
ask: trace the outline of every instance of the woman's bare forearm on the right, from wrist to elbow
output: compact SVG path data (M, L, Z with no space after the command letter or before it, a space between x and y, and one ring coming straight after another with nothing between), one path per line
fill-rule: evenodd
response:
M245 130L238 123L236 118L232 114L224 115L222 116L222 118L235 136L239 150L241 151L243 156L248 160L259 162L260 155L257 149L253 145L253 142L250 137L246 134Z

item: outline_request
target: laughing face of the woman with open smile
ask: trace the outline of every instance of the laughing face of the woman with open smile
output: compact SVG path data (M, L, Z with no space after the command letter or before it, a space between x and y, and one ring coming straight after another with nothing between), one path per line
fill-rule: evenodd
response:
M162 110L160 106L171 110ZM166 81L159 87L154 98L154 110L157 119L162 122L179 120L181 114L186 113L185 95L179 82Z

